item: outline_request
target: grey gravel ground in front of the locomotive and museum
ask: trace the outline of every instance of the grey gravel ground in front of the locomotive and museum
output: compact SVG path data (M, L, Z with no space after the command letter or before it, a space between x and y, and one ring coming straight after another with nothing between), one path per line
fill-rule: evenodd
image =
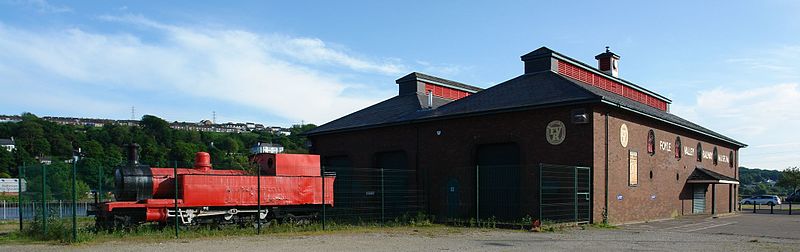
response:
M370 233L263 235L159 243L0 245L0 251L800 251L795 239L658 230L593 229L556 233L450 227Z

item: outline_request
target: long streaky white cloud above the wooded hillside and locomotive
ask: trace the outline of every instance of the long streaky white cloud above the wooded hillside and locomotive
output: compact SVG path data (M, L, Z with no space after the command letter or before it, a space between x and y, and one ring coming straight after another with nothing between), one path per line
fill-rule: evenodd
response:
M383 97L345 94L347 88L364 85L347 83L319 64L382 75L405 71L400 64L356 57L316 38L175 26L141 16L101 19L133 24L152 34L34 31L0 23L0 73L10 74L0 80L0 87L14 94L34 89L175 93L255 108L287 120L323 123Z

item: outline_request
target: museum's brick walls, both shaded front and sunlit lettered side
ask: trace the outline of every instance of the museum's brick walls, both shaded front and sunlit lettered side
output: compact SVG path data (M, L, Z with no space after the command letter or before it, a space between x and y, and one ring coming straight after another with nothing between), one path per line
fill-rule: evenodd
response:
M589 124L572 124L570 111L587 109ZM605 117L606 107L570 106L472 117L453 118L415 124L365 129L353 132L311 136L312 151L326 156L350 158L354 167L374 167L379 152L405 151L410 169L416 169L417 182L424 190L424 199L432 214L446 216L447 183L459 181L458 215L475 215L476 150L482 144L515 143L520 151L520 212L537 216L540 163L592 167L593 221L602 220L605 203ZM550 145L545 138L546 125L561 120L567 136L560 145ZM620 126L628 127L628 146L622 147ZM655 154L647 153L647 134L655 133ZM437 134L439 132L439 134ZM718 148L728 155L732 149L721 142L695 133L656 122L628 112L613 110L609 116L609 216L612 223L665 219L692 213L691 186L686 178L696 165L737 177L735 168L727 163L714 165L710 159L697 162L696 156L683 155L676 159L674 146L662 150L660 142L674 145L680 136L683 146L694 147L701 141L704 150ZM698 140L699 139L699 140ZM628 153L639 154L639 184L628 185ZM736 150L734 155L736 155ZM696 155L696 154L695 154ZM730 158L738 167L738 158ZM649 174L652 171L653 177ZM710 188L710 187L709 187ZM621 194L623 200L617 200ZM655 198L651 198L655 196ZM735 198L735 197L734 197ZM711 209L711 190L708 190L707 211ZM728 185L717 185L717 213L728 211Z

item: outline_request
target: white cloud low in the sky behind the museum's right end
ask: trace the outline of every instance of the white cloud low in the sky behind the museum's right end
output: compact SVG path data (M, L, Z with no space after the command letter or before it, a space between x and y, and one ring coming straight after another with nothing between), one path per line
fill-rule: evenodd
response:
M697 94L694 104L674 105L673 113L750 146L741 165L783 169L800 166L800 85L750 89L715 88Z

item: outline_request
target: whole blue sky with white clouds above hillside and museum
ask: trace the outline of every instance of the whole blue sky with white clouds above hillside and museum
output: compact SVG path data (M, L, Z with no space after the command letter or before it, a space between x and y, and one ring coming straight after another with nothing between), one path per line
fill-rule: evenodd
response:
M0 0L0 114L323 124L413 71L479 87L547 46L800 166L797 1ZM133 111L132 111L133 108ZM133 112L133 113L132 113Z

